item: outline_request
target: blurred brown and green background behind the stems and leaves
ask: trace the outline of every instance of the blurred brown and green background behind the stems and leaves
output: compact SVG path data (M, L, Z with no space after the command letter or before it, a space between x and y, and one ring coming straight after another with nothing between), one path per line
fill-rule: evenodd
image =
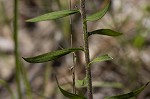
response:
M86 0L90 15L104 6L104 0ZM13 44L13 0L0 0L0 79L8 82L16 93L15 61ZM79 9L79 0L72 0L72 8ZM69 9L68 0L20 0L19 1L19 53L21 57L34 56L53 50L70 47L69 17L56 21L26 23L25 20L44 13ZM82 46L80 14L72 16L73 46ZM138 88L150 80L150 1L112 0L109 12L102 20L89 22L88 31L110 28L123 35L117 38L91 36L91 59L109 53L113 61L96 63L92 66L94 99L120 94ZM76 79L84 78L84 56L76 53ZM22 59L21 59L22 60ZM72 56L67 55L43 64L23 61L33 96L36 99L63 99L58 91L54 73L61 86L71 90ZM150 99L150 87L137 99ZM78 91L85 94L85 88ZM22 94L26 92L22 83ZM9 99L7 90L0 85L0 99ZM65 99L65 98L64 98Z

